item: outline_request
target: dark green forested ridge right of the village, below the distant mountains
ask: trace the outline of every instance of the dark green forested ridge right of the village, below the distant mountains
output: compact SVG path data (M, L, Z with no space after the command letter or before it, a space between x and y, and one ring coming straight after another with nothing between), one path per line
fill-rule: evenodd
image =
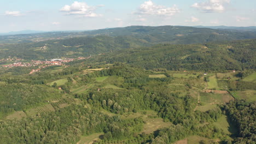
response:
M145 69L226 70L255 69L256 39L225 43L159 44L106 53L98 61L124 62Z

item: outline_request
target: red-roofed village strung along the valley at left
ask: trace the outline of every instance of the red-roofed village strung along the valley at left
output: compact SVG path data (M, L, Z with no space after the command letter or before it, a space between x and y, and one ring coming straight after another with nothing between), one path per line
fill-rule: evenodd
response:
M78 58L63 58L63 59L50 59L50 60L45 60L45 61L36 61L36 60L31 60L30 62L25 61L25 59L21 58L12 58L9 56L9 58L3 58L0 59L0 62L6 62L10 64L4 64L2 65L2 68L13 68L13 67L38 67L38 69L32 69L30 71L30 74L33 74L37 71L40 71L42 68L46 68L49 66L53 65L61 65L64 66L65 63L72 62L75 60L80 60L80 59L88 59L91 58L89 57L78 57ZM13 63L14 62L14 63Z

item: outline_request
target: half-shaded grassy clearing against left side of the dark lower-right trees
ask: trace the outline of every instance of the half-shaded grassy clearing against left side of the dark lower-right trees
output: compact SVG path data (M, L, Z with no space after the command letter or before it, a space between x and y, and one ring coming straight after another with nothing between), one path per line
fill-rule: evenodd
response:
M232 125L230 122L230 119L223 115L218 119L217 122L214 122L214 125L218 127L219 129L222 129L226 134L236 134L237 129Z

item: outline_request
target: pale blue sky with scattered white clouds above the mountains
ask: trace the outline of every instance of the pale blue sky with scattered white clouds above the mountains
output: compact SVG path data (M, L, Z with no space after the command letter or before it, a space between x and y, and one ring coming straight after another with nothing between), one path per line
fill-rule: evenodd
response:
M255 0L0 0L0 32L131 25L256 26Z

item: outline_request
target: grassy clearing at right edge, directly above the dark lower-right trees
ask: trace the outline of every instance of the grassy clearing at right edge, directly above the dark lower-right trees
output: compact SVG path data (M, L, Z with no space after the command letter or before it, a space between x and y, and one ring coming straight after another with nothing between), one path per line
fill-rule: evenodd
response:
M233 97L236 99L246 99L248 101L256 100L256 91L255 90L246 90L246 91L236 91L231 92Z

